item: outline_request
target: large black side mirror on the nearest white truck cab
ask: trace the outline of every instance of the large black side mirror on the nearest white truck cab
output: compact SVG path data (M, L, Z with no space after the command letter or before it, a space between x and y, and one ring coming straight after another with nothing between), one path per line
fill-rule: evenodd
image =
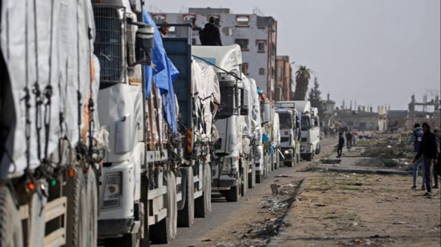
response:
M154 46L154 29L152 25L144 25L136 31L135 39L135 56L136 62L134 65L150 65L153 57Z

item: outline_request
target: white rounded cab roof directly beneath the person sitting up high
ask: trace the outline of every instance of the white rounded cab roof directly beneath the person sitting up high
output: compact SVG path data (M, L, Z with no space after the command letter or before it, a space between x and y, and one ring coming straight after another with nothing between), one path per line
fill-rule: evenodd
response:
M238 65L242 64L242 51L237 44L225 46L192 45L192 54L225 69L227 72L236 71L236 74L239 74ZM223 72L218 68L215 70Z

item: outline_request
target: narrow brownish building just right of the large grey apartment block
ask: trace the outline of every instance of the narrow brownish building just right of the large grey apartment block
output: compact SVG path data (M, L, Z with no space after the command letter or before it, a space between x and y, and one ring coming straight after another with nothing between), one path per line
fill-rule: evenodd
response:
M276 58L276 95L275 100L292 100L291 93L294 91L291 84L292 67L289 56L277 56Z

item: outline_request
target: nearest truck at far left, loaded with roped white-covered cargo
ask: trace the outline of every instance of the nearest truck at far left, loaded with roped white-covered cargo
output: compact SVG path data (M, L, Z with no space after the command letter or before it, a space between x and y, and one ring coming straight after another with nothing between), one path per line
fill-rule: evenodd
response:
M107 134L91 3L0 8L0 246L94 244Z

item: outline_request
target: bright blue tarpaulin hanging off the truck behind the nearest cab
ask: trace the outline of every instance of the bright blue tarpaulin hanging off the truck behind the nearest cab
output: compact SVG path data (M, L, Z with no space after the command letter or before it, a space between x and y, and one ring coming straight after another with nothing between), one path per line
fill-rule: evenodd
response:
M153 19L143 10L144 23L154 27L154 48L152 66L145 66L145 95L148 97L152 89L152 79L156 87L161 89L163 96L164 113L168 126L173 133L177 133L176 106L174 101L173 82L179 75L178 69L167 57L164 50L161 34Z

